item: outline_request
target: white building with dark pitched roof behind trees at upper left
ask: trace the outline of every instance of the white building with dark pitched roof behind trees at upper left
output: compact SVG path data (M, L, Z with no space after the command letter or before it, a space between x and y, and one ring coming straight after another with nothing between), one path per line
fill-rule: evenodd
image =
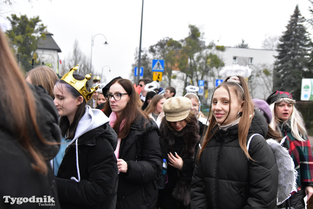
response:
M40 38L38 40L38 48L36 54L38 55L38 60L43 62L44 65L52 68L57 74L59 74L59 55L61 52L58 44L55 43L52 38L53 34L49 32L44 32L46 35L45 39Z

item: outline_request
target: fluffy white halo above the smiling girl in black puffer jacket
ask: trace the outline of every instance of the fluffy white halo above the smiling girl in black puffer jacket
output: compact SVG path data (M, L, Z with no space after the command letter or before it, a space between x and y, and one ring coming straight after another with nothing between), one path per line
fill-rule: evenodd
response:
M222 78L230 76L242 76L244 78L248 78L251 75L251 71L252 69L249 65L233 64L224 66L218 74L222 76Z

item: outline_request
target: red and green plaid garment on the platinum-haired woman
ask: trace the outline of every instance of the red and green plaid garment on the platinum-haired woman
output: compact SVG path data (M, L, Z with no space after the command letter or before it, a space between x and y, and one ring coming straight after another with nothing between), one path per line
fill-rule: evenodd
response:
M284 126L282 133L287 136L284 146L289 150L289 154L295 163L295 170L298 172L297 187L301 189L301 182L313 181L313 157L310 141L305 136L305 141L301 142L294 138L291 129Z

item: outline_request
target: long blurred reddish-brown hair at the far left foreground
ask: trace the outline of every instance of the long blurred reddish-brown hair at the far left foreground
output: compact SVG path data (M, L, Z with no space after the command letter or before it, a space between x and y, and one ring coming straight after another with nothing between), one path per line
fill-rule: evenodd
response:
M36 103L31 89L22 75L16 60L8 46L7 39L0 29L0 89L2 90L1 108L3 120L7 123L7 132L14 138L33 159L33 169L47 174L44 157L32 140L32 132L44 144L54 144L46 141L40 133L36 121ZM14 104L14 108L12 108Z

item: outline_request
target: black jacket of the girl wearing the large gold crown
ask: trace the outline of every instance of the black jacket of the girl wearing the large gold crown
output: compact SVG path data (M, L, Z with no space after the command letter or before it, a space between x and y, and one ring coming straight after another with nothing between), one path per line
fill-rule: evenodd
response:
M78 164L76 146L71 144L56 178L59 201L62 208L72 209L115 209L117 190L117 161L114 150L117 135L109 123L94 128L78 138Z

